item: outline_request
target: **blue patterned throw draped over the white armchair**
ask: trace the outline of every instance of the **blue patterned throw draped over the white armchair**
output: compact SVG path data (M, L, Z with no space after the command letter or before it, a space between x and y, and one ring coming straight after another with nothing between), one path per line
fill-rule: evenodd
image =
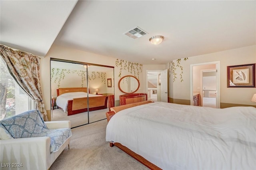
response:
M0 121L0 127L12 138L49 136L51 152L56 152L71 136L70 128L47 129L39 110L29 110Z

